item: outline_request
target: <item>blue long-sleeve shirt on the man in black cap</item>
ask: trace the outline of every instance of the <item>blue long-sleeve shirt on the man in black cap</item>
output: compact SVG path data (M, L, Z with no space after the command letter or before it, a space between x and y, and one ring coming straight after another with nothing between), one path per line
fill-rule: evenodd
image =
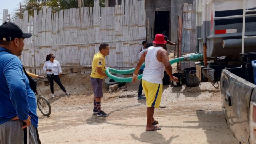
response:
M7 49L0 47L2 50ZM38 127L36 108L36 96L29 87L20 59L8 52L0 52L0 124L15 116L23 121L29 115L31 124Z

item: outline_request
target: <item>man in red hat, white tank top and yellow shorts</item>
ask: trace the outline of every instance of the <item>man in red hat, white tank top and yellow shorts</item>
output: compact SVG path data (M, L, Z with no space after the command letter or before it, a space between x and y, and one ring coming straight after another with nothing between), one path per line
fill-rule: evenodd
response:
M156 34L155 41L153 41L155 46L149 47L140 57L139 62L135 68L132 82L137 82L137 74L140 70L141 65L145 62L145 68L142 77L142 86L145 92L147 100L147 125L146 131L156 131L160 130L161 127L154 126L158 124L155 121L154 109L159 108L162 88L163 88L163 77L164 68L167 74L173 81L178 82L178 78L172 75L172 66L169 62L168 53L163 49L166 41L164 41L164 35Z

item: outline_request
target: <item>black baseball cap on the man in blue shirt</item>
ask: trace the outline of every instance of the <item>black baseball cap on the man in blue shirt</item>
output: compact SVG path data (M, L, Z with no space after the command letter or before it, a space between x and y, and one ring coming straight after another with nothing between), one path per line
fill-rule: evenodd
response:
M0 40L12 41L15 38L30 38L32 34L23 33L19 26L12 22L4 22L0 26Z

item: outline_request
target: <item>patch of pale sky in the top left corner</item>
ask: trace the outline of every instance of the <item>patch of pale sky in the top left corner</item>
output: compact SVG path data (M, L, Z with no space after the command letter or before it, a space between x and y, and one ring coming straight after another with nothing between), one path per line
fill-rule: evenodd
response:
M4 9L8 9L8 13L12 17L15 9L19 8L20 2L22 4L23 0L0 0L0 25L2 24Z

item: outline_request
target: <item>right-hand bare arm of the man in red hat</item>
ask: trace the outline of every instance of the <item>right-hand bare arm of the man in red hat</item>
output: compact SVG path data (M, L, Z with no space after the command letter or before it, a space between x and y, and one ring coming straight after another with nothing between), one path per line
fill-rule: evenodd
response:
M172 75L172 65L169 62L168 53L165 50L161 50L161 58L162 62L164 63L165 70L167 74L173 81L179 82L178 78Z

